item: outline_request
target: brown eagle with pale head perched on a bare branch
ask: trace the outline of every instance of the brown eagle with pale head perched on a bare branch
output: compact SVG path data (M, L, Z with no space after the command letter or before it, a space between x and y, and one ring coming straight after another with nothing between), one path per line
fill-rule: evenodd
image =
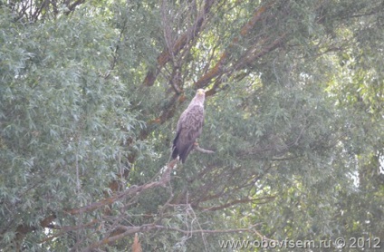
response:
M206 92L198 89L187 109L180 115L172 146L173 160L179 158L184 163L189 152L193 150L195 142L203 130L205 99Z

